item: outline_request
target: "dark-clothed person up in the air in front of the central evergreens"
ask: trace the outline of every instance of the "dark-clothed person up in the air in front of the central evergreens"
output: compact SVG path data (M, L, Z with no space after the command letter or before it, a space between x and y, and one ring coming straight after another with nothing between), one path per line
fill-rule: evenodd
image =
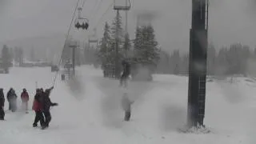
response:
M120 86L123 85L123 82L125 82L125 86L127 86L127 79L130 75L130 63L126 60L122 60L122 75L120 78Z

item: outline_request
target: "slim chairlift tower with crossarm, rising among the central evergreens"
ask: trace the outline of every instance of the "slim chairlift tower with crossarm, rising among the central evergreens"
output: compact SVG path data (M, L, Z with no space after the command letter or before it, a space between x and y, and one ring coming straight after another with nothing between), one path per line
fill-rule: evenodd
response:
M117 10L117 17L119 15L119 10L124 10L124 11L128 11L130 10L130 6L128 6L128 2L130 3L130 0L126 0L126 6L118 6L116 4L116 0L114 0L114 10ZM126 18L127 19L127 18ZM126 22L127 23L127 22ZM119 78L120 77L120 66L119 66L119 32L118 32L118 25L116 27L116 48L115 48L115 78Z

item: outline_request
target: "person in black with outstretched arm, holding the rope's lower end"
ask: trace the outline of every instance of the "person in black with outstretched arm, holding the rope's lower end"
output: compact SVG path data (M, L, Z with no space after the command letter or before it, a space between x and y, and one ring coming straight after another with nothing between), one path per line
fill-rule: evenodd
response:
M50 114L50 106L58 106L58 103L53 103L50 101L50 92L54 89L54 86L50 87L50 89L46 89L46 91L42 94L42 113L44 114L46 121L45 121L45 127L49 126L50 120L51 120L51 114Z

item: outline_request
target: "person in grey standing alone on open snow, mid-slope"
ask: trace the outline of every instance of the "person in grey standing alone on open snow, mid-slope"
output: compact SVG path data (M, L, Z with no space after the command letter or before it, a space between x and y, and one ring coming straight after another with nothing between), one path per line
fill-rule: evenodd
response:
M134 101L131 101L130 98L128 98L128 94L124 93L122 95L122 109L125 111L125 121L130 121L130 114L131 114L131 105L134 103Z

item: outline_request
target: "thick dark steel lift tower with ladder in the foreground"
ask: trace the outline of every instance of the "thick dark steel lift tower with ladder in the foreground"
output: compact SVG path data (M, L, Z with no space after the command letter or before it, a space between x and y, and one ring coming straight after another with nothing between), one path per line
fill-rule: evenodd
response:
M206 102L206 59L208 0L192 0L187 125L204 126Z

